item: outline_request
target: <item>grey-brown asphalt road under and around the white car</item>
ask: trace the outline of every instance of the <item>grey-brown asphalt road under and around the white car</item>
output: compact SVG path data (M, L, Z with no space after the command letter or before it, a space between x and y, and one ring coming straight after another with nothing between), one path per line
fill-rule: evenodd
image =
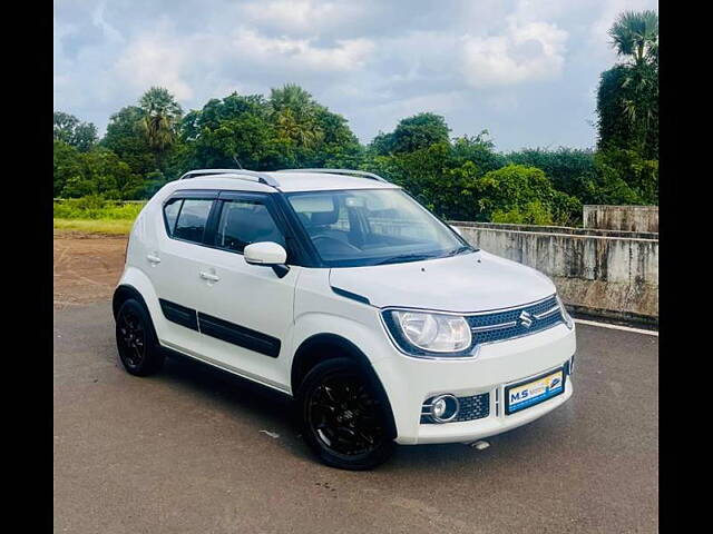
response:
M352 473L312 457L280 397L187 362L133 377L113 333L109 303L56 312L56 532L658 530L657 337L578 325L564 406L485 451Z

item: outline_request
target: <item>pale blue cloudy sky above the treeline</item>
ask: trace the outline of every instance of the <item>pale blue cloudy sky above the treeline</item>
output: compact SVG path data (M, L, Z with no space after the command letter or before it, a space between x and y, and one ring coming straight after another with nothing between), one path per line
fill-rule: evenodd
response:
M596 142L607 30L652 0L55 0L55 110L94 122L152 86L185 111L299 83L362 142L421 111L501 151Z

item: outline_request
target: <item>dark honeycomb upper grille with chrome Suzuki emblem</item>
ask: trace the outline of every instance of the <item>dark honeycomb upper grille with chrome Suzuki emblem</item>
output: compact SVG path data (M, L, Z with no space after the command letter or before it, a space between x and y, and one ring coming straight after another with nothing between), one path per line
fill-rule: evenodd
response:
M555 295L505 312L471 315L467 319L472 329L473 347L534 334L565 320Z

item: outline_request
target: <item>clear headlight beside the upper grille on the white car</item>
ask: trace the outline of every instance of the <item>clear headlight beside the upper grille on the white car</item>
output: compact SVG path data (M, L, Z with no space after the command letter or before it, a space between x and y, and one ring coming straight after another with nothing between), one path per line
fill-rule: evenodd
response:
M470 348L470 325L458 315L387 310L384 320L399 346L413 355L461 355Z

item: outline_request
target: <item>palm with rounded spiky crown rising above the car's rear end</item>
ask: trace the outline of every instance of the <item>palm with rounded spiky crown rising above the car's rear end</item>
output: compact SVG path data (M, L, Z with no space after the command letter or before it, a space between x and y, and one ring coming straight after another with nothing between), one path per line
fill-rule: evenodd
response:
M174 96L163 87L152 87L139 100L144 111L140 126L148 146L158 158L174 144L183 109Z

